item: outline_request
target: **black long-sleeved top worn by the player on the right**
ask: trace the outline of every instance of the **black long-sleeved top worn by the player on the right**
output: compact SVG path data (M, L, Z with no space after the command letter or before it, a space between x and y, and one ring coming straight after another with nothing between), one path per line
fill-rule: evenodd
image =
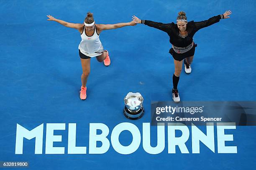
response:
M220 19L223 19L223 15L217 15L212 18L209 18L208 20L200 21L200 22L194 22L190 21L187 23L187 37L182 38L179 36L179 28L177 24L169 23L169 24L163 24L163 23L157 23L154 21L149 20L142 20L141 22L145 25L148 25L150 27L157 28L159 30L162 30L166 32L170 36L170 42L172 45L176 47L187 47L190 45L193 41L193 36L195 33L200 30L201 28L208 27L212 24L218 23Z

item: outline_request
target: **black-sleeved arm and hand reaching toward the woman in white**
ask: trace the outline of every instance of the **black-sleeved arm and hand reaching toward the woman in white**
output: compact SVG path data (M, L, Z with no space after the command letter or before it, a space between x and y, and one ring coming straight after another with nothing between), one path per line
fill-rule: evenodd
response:
M135 21L135 23L145 24L145 25L148 25L149 27L153 27L153 28L162 30L164 32L170 31L171 27L172 27L172 24L163 24L163 23L157 23L157 22L149 21L149 20L140 20L135 15L133 15L133 20Z

